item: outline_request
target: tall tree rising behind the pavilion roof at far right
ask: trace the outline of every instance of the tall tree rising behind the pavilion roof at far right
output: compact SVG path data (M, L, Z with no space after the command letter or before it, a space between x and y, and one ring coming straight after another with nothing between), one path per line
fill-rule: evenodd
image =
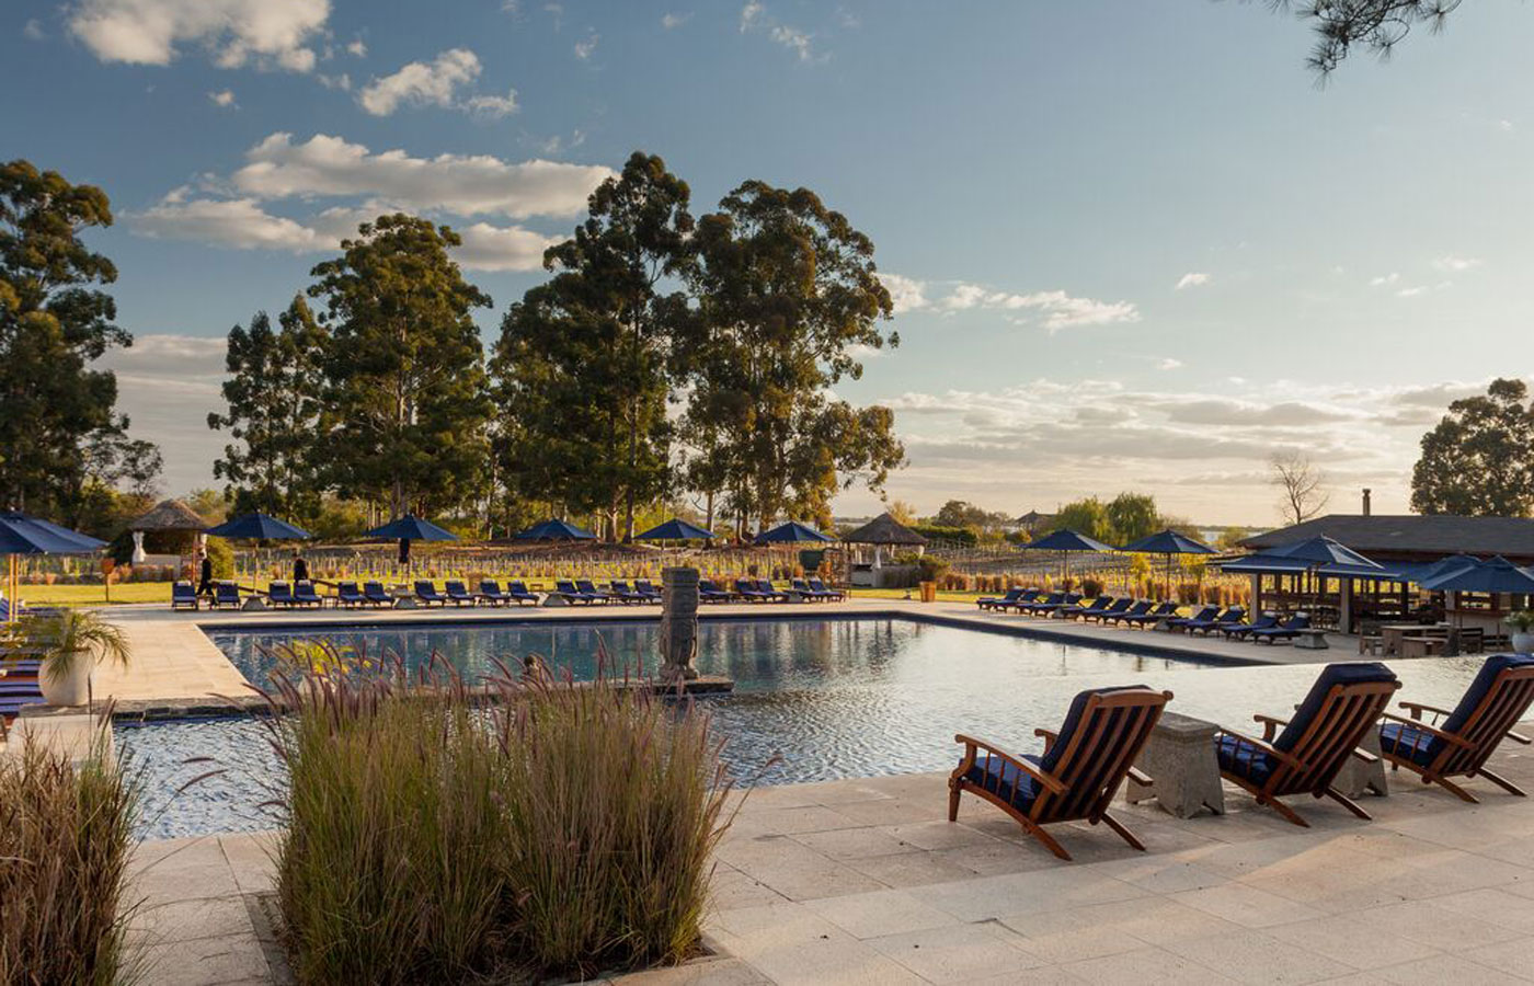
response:
M1534 514L1534 402L1523 380L1493 380L1422 435L1411 509L1465 517ZM1525 403L1528 402L1528 403Z

